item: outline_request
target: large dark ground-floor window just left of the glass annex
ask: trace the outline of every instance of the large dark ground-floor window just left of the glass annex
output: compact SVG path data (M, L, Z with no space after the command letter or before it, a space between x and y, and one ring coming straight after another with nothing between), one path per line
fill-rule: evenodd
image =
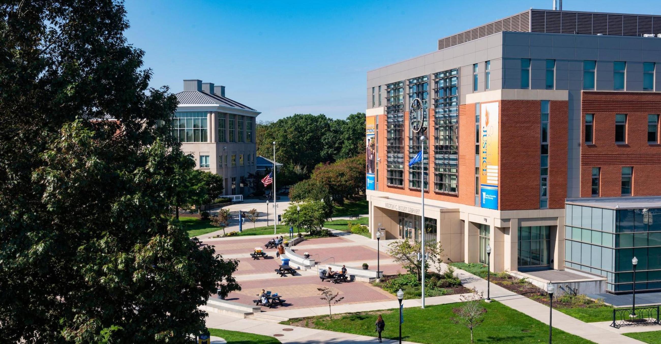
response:
M551 226L519 227L519 267L550 265Z

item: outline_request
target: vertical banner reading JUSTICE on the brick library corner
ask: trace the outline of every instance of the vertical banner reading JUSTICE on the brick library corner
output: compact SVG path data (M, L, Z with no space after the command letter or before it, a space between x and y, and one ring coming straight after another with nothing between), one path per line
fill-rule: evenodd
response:
M498 209L498 103L481 104L480 204Z

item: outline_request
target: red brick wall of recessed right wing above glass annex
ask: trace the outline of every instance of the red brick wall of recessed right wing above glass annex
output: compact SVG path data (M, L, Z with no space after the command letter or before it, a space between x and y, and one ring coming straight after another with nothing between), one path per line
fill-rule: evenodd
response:
M594 139L585 144L585 114L594 114ZM627 143L615 144L615 114L627 114ZM600 167L600 196L621 195L623 166L633 167L632 195L661 195L661 145L647 142L647 115L661 114L661 94L584 91L581 106L580 196L592 195L592 167ZM658 140L658 129L657 129Z

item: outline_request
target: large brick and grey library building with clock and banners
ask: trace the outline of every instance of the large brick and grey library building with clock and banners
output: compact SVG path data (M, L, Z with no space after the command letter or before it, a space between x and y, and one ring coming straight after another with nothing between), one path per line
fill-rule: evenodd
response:
M661 290L660 63L661 16L529 9L368 71L371 232Z

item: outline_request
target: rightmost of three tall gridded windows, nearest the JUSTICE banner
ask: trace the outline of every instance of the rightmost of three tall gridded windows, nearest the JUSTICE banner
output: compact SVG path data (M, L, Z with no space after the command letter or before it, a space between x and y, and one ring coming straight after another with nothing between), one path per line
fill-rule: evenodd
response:
M434 73L434 191L457 193L459 69Z

